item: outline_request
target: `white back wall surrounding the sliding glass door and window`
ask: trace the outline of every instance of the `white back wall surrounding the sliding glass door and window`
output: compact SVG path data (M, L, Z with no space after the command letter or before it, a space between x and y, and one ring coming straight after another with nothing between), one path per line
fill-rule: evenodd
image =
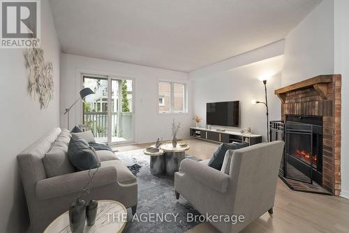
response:
M188 85L189 113L159 114L156 106L157 80L187 82L187 73L68 54L61 55L61 127L67 126L66 116L63 116L64 108L73 104L79 97L82 88L81 72L134 78L135 143L156 141L158 137L163 137L164 140L171 139L173 118L182 125L179 138L189 136L188 128L192 124L190 85ZM81 123L80 101L70 111L70 127Z

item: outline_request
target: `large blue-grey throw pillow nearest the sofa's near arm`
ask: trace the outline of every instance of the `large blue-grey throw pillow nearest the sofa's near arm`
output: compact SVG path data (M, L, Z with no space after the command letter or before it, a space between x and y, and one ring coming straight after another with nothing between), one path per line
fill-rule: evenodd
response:
M68 158L77 170L95 169L101 166L96 150L86 140L72 135L68 145Z

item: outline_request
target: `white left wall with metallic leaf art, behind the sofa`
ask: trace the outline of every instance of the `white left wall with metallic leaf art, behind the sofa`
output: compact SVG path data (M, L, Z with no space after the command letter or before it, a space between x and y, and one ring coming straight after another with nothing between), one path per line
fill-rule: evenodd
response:
M54 101L40 110L27 91L24 50L0 49L1 165L0 232L26 232L29 216L16 156L53 127L59 127L59 56L61 49L48 1L41 1L41 45L53 62Z

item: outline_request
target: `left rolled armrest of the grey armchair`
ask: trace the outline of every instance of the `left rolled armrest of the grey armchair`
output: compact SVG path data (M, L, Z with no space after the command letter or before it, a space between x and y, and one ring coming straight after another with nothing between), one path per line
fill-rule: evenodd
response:
M191 176L203 185L207 185L218 192L226 192L228 190L230 177L206 164L184 159L181 162L179 171L188 174L188 176Z

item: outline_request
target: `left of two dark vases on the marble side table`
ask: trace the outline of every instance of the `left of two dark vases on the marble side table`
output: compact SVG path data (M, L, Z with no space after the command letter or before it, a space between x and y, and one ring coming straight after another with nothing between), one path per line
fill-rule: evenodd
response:
M86 220L86 203L77 200L69 208L69 225L72 233L82 233Z

